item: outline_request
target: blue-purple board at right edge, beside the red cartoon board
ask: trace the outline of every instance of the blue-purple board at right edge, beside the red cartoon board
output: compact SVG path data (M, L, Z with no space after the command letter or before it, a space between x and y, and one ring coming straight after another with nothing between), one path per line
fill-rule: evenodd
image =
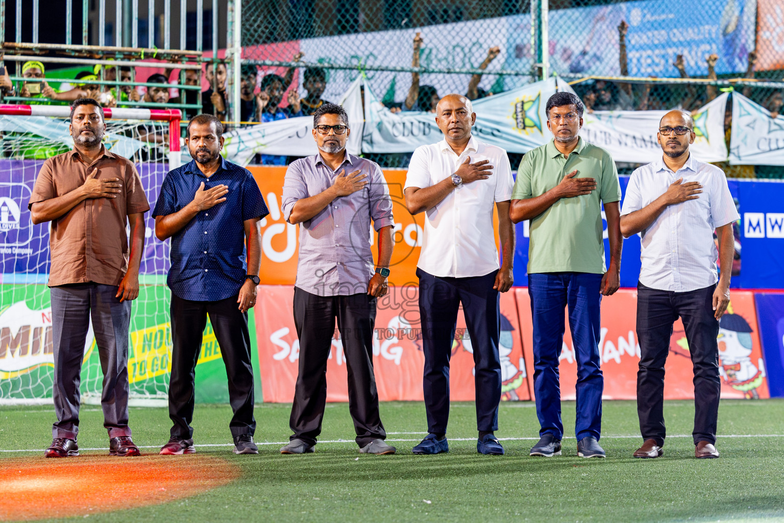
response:
M756 292L757 319L771 396L784 397L784 293Z

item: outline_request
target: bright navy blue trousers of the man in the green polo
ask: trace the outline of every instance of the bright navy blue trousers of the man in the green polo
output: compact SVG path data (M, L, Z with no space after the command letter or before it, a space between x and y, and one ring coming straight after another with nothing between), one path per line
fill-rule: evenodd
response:
M540 435L564 435L561 423L561 388L558 357L564 345L564 308L577 359L577 441L601 435L601 274L549 272L528 274L528 295L533 317L534 391Z

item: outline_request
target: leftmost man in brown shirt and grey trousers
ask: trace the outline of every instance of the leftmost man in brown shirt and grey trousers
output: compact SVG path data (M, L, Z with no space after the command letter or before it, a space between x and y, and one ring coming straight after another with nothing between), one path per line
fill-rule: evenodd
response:
M139 296L144 212L150 205L133 163L103 147L105 132L100 104L75 100L74 150L44 162L28 205L33 223L52 222L49 287L57 423L46 457L79 454L79 380L90 318L103 369L109 454L140 455L128 427L128 329L131 300Z

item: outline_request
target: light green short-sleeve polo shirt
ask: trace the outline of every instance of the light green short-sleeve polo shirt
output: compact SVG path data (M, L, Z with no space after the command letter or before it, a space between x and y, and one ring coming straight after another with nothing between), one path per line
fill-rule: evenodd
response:
M513 200L536 198L561 183L576 170L575 178L593 178L597 188L590 194L561 198L531 219L528 243L528 274L540 272L586 272L603 274L604 238L601 204L619 202L621 186L615 162L607 151L579 138L568 158L554 141L525 154Z

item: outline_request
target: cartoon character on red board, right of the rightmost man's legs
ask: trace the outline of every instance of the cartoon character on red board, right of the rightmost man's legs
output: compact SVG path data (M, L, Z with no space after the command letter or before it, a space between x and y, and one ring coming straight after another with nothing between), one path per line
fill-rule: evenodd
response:
M751 326L740 314L724 314L719 321L719 375L747 399L757 399L765 378L764 361L751 361Z

